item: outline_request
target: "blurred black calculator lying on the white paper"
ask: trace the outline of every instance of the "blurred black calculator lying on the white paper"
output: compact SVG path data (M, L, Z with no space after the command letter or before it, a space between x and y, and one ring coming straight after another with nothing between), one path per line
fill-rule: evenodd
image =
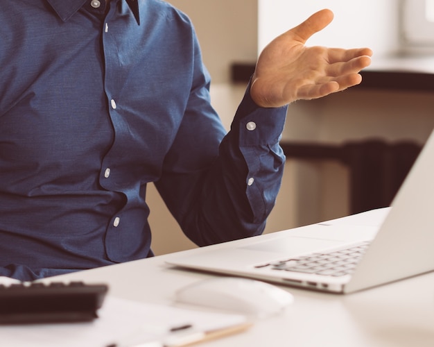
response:
M84 282L0 285L0 324L92 321L108 287Z

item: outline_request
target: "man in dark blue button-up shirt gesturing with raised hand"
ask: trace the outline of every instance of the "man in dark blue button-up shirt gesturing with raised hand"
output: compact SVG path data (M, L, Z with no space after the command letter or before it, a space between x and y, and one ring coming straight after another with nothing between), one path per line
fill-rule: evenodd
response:
M261 54L229 133L189 18L159 0L21 0L0 12L0 276L152 256L155 182L199 246L259 235L286 105L361 82L369 49L304 46L323 10Z

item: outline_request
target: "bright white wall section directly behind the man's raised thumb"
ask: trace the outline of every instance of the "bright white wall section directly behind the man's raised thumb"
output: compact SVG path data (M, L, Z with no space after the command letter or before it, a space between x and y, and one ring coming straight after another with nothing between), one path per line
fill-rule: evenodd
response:
M399 48L399 0L258 0L259 50L273 37L300 24L313 12L329 8L335 17L309 45L369 46L376 56Z

